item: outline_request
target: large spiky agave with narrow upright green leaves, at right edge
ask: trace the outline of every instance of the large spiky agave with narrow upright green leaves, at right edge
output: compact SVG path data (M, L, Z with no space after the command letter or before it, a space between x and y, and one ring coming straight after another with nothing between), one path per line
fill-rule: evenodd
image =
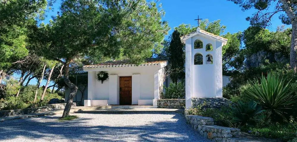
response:
M249 99L259 102L266 111L284 118L283 111L291 109L297 102L296 90L290 86L290 82L285 84L283 78L269 72L267 78L262 75L261 83L254 81L245 93Z

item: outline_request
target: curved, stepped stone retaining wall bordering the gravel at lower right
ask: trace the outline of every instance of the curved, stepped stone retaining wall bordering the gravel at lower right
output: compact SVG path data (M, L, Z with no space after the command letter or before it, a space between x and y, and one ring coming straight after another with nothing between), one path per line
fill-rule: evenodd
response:
M187 123L189 123L194 130L214 142L235 142L235 138L240 137L240 129L213 125L213 118L197 115L185 116Z

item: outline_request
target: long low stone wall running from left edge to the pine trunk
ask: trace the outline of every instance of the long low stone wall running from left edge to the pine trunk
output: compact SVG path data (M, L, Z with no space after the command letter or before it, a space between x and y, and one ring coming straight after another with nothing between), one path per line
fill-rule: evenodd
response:
M4 111L0 111L0 117L16 116L16 115L22 115L22 114L38 113L38 112L41 112L41 111L51 111L51 110L64 109L65 105L66 105L66 103L58 103L58 104L45 105L43 107L37 107L37 108L23 108L23 109L14 109L14 110L4 110ZM76 106L75 102L73 102L72 106Z

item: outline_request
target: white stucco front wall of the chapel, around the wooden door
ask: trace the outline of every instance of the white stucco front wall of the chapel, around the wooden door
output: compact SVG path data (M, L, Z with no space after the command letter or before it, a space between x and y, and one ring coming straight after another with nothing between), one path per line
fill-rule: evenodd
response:
M84 71L88 71L88 75L91 75L88 77L88 83L95 84L88 88L88 100L108 100L106 105L119 105L119 78L132 76L132 104L141 102L153 105L155 73L160 68L161 65L84 68ZM103 84L97 81L99 71L108 71L109 81L103 81Z

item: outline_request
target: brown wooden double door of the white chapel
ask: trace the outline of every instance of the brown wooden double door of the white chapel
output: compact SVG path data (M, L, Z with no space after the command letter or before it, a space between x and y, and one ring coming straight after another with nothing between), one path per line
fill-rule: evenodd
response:
M120 105L132 105L132 76L120 77Z

